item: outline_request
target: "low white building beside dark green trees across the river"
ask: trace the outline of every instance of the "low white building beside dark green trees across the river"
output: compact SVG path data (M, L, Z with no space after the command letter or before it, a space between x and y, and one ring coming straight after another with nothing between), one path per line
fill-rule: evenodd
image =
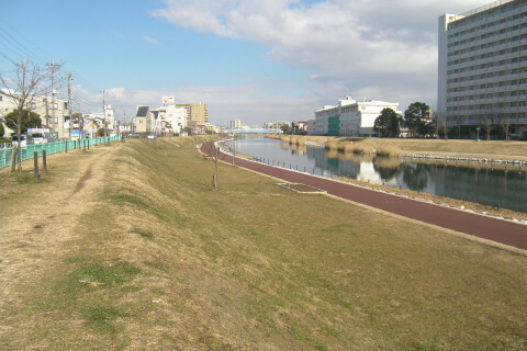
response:
M328 136L370 136L374 135L373 125L384 109L395 113L399 103L377 100L362 102L347 97L335 106L324 106L315 111L315 134Z

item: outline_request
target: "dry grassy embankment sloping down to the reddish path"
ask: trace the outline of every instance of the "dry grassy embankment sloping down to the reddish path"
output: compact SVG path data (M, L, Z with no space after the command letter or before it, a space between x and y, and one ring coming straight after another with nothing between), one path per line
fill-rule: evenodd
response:
M2 263L0 349L527 348L526 256L231 166L214 190L213 161L190 139L168 143L125 143L72 189L65 180L108 149L68 156L38 183L0 174L2 216L57 205L45 196L57 188L87 192L63 242L35 239L23 280ZM32 234L1 230L24 260Z

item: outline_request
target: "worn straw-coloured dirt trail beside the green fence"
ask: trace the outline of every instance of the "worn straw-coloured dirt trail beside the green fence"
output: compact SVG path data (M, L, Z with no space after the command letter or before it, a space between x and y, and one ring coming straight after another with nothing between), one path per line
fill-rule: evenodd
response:
M21 192L29 186L1 184L1 315L5 306L23 301L20 286L31 291L29 287L53 270L54 262L60 259L59 253L76 238L76 226L97 206L105 167L120 147L114 144L92 148L87 154L72 151L49 157L51 173L43 174L44 182L30 186L31 194ZM29 163L23 166L30 168ZM46 178L53 181L46 182ZM5 325L0 324L0 330L7 328Z

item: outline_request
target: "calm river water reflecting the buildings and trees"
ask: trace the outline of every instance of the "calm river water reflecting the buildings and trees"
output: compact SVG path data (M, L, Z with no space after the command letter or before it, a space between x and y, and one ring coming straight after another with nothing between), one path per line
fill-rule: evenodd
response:
M233 147L233 141L228 144ZM406 158L363 157L321 147L291 147L274 139L238 139L236 152L265 163L324 177L346 177L386 186L500 206L527 213L527 169L445 161L413 162ZM497 169L500 168L500 169Z

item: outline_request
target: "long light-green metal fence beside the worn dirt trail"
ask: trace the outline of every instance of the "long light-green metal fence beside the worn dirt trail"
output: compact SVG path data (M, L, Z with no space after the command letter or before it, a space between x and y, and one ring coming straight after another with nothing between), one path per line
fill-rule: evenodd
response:
M46 150L46 155L64 152L66 149L71 150L85 146L93 146L99 144L104 144L108 141L115 141L120 139L120 136L109 136L101 138L89 138L80 140L65 140L65 141L55 141L37 145L27 145L21 148L21 160L33 159L35 151L38 157L42 156L42 152ZM79 145L80 144L80 145ZM9 167L11 165L11 155L13 154L12 147L0 148L0 169Z

